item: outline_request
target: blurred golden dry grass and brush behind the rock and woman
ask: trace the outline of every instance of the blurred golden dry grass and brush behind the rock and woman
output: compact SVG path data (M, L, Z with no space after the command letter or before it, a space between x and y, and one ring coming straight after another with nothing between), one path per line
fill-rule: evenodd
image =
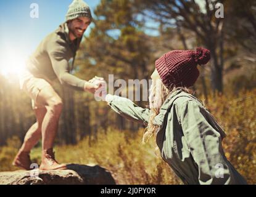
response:
M225 153L236 169L250 184L256 183L256 89L241 91L237 96L209 96L207 108L226 131ZM170 167L154 153L154 143L142 146L143 129L138 132L118 131L109 127L107 134L99 131L97 140L89 146L89 139L77 145L56 147L61 163L99 164L114 176L118 184L181 184ZM20 142L9 140L0 150L0 171L10 166ZM31 152L33 161L40 163L40 148Z

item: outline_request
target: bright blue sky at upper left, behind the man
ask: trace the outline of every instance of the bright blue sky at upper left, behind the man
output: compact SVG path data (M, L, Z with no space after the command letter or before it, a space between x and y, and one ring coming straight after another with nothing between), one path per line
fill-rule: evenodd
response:
M19 60L23 61L47 34L65 22L65 14L71 2L72 0L0 1L0 72L6 72L7 66L14 66ZM85 2L93 12L100 0ZM30 17L32 3L39 6L39 18ZM87 30L86 34L88 33ZM12 65L6 65L10 60Z

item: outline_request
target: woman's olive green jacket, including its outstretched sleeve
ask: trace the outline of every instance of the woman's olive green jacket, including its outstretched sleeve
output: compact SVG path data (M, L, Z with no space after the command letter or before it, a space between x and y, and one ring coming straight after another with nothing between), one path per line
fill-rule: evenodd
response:
M150 110L128 98L107 95L110 107L125 118L147 124ZM163 103L154 124L162 158L185 184L246 184L224 155L225 132L194 96L176 90Z

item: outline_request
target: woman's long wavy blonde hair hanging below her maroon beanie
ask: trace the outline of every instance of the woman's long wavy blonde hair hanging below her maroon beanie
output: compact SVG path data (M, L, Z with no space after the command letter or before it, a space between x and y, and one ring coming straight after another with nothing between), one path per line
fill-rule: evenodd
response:
M191 89L187 88L187 87L175 87L175 86L171 86L169 88L165 87L165 85L162 83L162 80L159 80L160 82L160 88L157 89L156 86L157 84L154 85L154 87L152 87L152 94L159 94L158 97L155 97L155 99L161 99L160 103L161 105L151 108L151 114L149 115L149 121L147 124L146 129L144 130L144 134L143 134L143 138L142 138L142 143L147 143L149 139L151 139L152 136L154 136L154 140L156 142L156 137L157 137L157 133L159 132L160 126L157 124L153 123L153 120L155 118L155 116L157 116L159 114L160 108L162 107L163 102L165 102L165 100L169 97L169 95L171 95L173 92L175 92L176 90L183 90L184 92L187 92L189 94L191 94ZM158 91L155 91L158 90ZM153 101L154 102L154 101ZM159 102L156 101L156 102ZM155 143L156 145L156 143ZM157 148L157 146L156 146Z

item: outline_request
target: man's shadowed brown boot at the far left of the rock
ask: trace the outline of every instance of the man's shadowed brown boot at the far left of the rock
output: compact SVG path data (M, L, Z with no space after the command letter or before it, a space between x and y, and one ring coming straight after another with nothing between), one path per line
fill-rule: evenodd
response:
M30 171L31 168L30 152L19 151L12 162L13 166L21 167L27 171Z

